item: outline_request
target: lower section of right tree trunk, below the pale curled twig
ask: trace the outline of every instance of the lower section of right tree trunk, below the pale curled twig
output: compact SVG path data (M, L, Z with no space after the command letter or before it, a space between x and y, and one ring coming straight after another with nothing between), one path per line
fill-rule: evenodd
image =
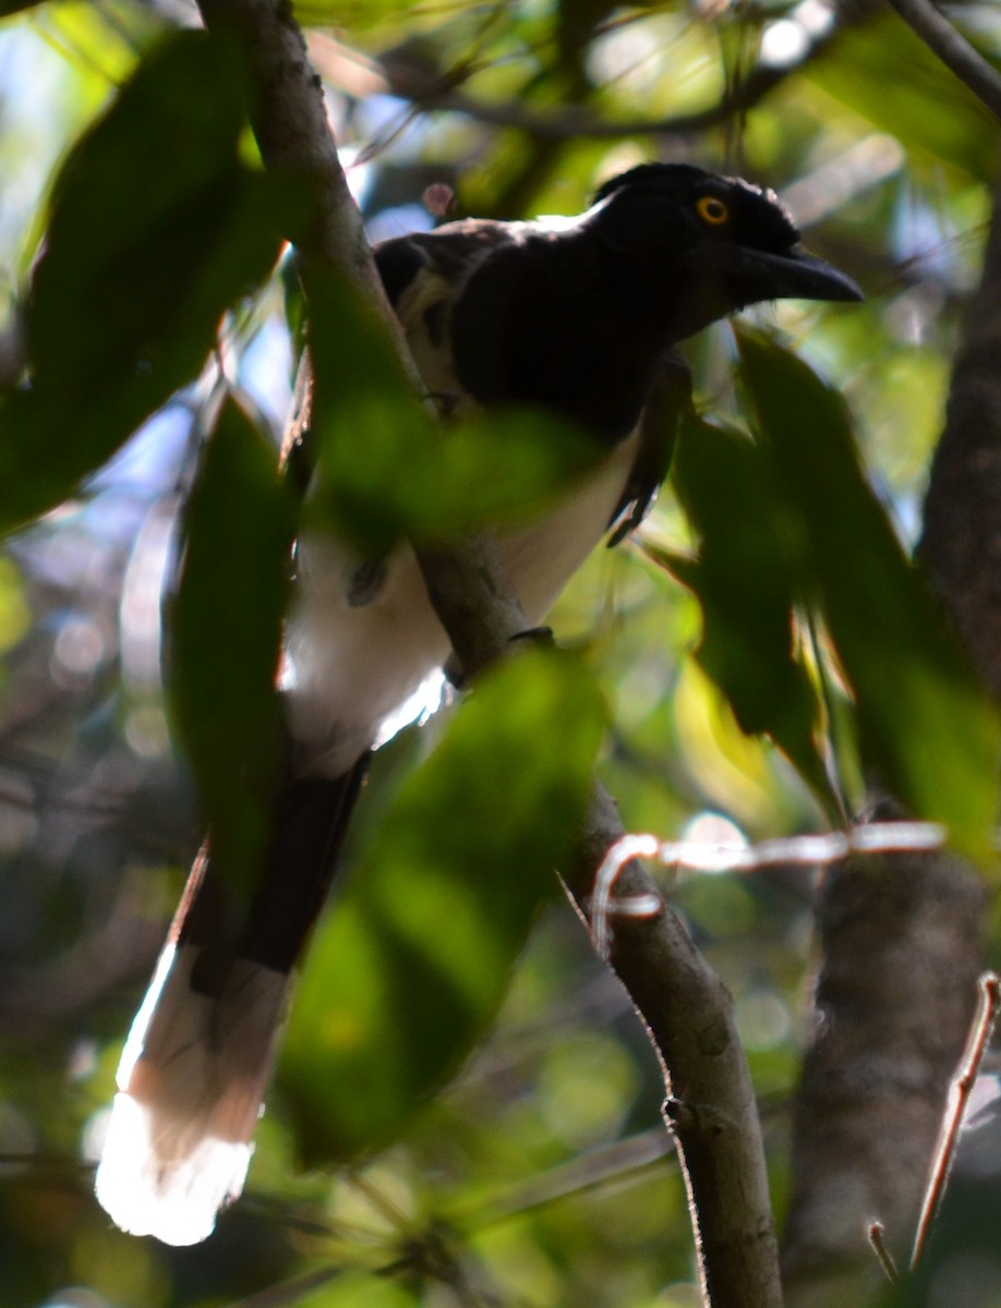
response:
M936 854L848 859L818 905L823 967L793 1137L789 1308L865 1304L879 1220L907 1266L980 971L984 896Z

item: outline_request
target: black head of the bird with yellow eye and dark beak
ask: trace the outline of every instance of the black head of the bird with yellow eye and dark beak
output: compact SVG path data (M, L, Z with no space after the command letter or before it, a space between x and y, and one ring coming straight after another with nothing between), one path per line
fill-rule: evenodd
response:
M649 303L676 318L675 340L760 301L864 298L851 277L806 254L772 191L741 178L642 164L606 182L594 201L593 230L642 268Z

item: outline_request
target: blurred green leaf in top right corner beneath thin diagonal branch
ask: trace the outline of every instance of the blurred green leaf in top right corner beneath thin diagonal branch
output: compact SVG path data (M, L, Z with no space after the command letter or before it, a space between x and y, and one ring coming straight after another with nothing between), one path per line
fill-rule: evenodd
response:
M919 158L932 156L984 182L994 175L997 124L989 111L896 14L844 29L823 58L803 65L803 76Z

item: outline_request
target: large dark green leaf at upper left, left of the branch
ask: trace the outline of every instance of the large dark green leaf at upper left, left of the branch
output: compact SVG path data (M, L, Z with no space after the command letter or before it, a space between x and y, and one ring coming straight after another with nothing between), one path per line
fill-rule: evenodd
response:
M71 494L196 375L273 266L302 196L239 164L245 103L233 47L184 33L67 160L27 305L31 386L0 407L0 530Z

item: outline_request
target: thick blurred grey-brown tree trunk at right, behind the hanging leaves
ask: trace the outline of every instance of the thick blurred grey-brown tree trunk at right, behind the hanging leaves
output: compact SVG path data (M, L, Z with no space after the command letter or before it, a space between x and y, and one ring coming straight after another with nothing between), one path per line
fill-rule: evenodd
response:
M932 466L921 561L1001 698L1001 192ZM975 1007L987 892L947 855L848 862L819 896L823 963L793 1141L789 1308L882 1286L865 1224L907 1265L949 1079Z

